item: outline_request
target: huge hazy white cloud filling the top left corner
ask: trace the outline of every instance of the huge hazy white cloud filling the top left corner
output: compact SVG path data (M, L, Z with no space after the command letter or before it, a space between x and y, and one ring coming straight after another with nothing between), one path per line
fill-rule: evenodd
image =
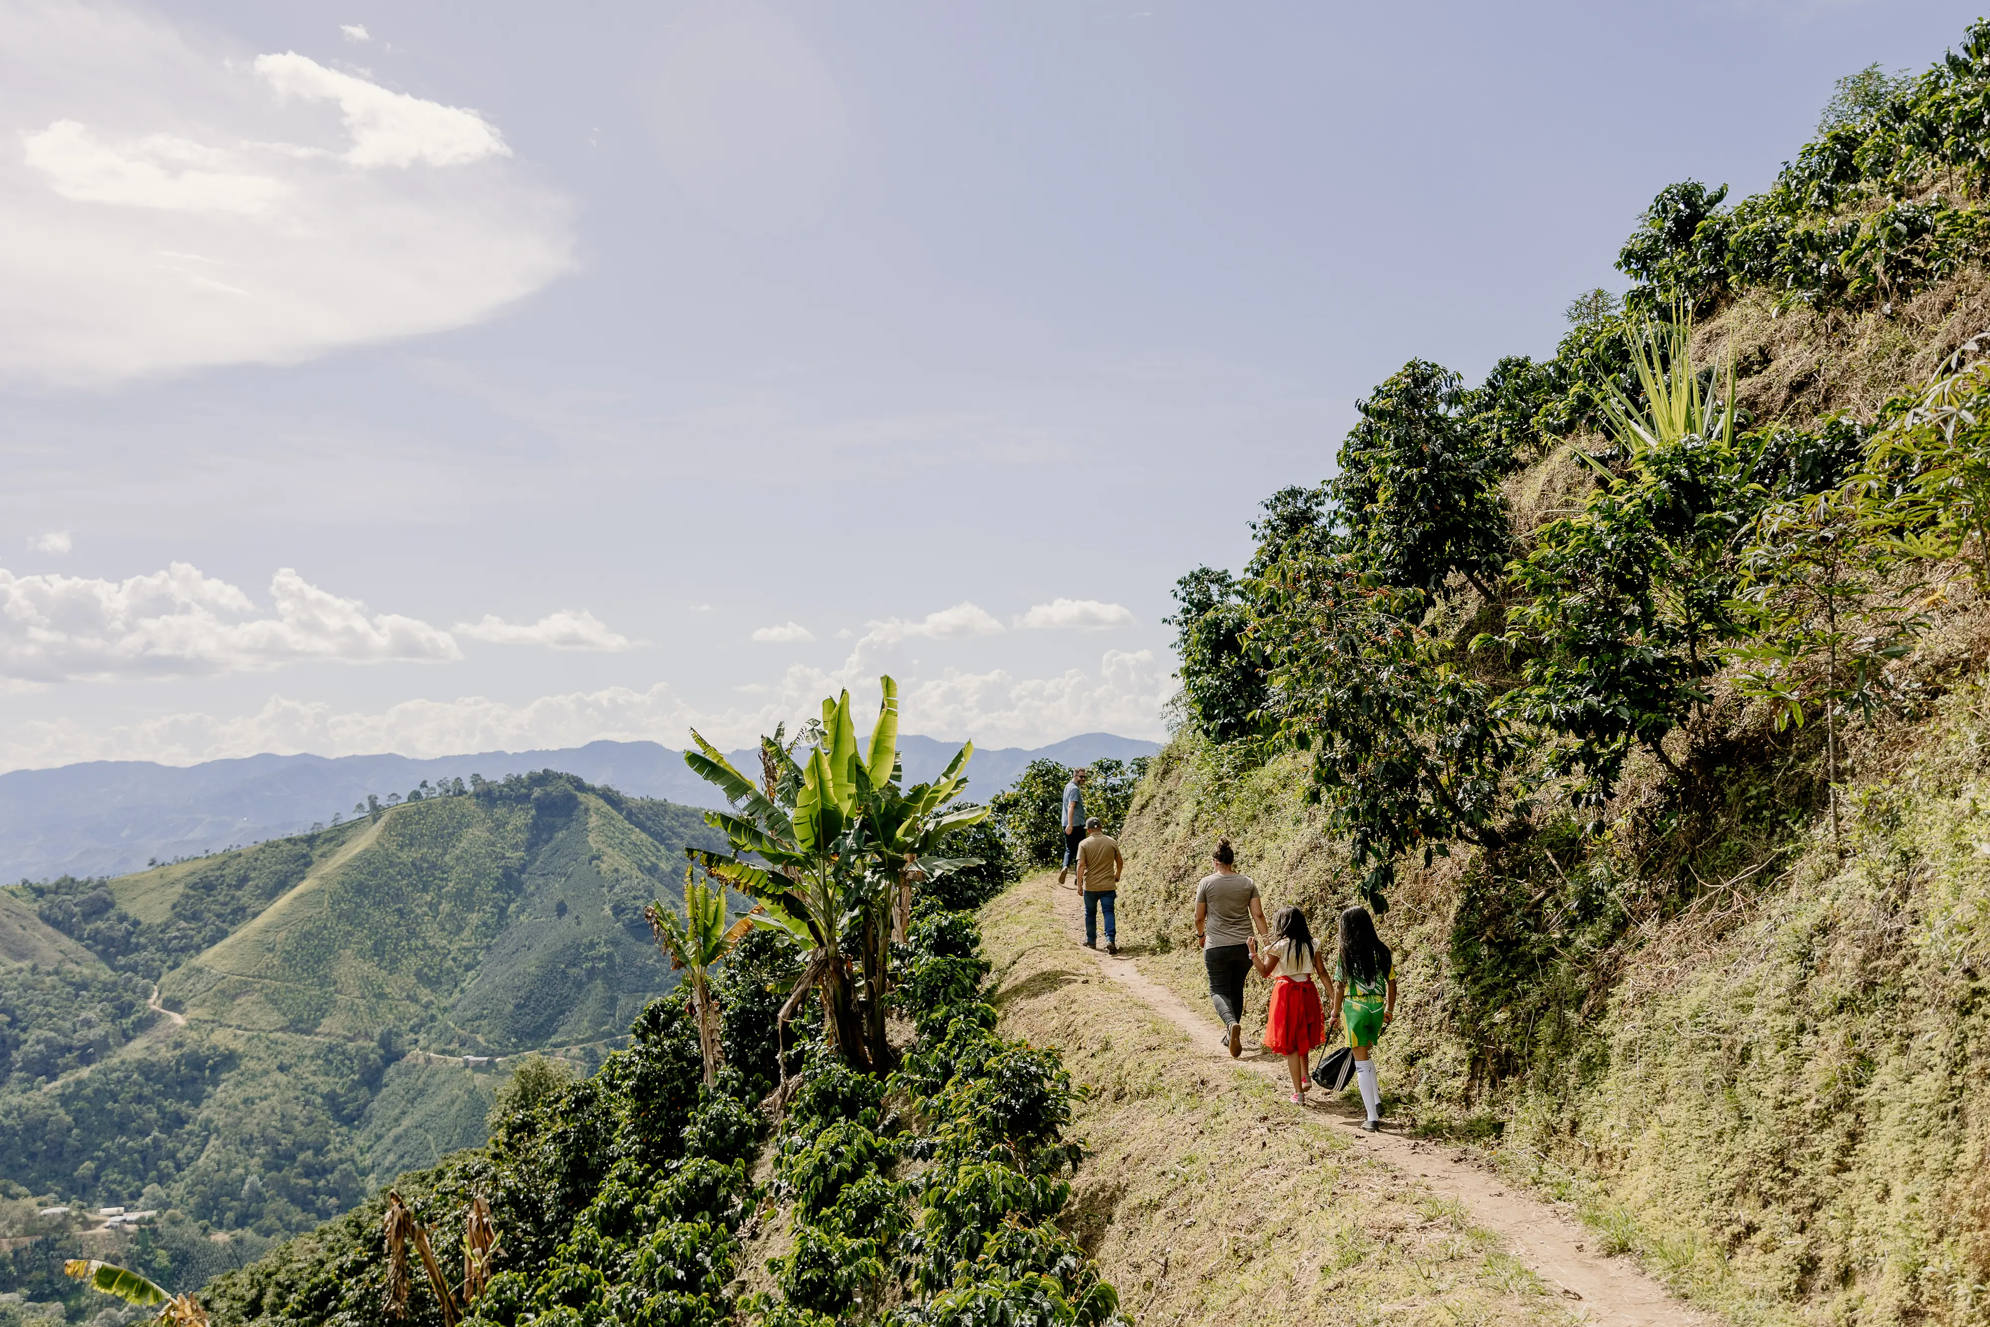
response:
M0 378L293 364L571 265L482 113L115 4L0 6Z

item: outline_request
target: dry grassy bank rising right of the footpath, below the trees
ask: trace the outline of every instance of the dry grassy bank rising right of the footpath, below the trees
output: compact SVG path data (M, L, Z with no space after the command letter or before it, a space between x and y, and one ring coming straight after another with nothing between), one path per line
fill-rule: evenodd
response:
M1397 1112L1574 1200L1608 1247L1739 1321L1982 1321L1986 742L1980 686L1875 742L1843 861L1805 808L1781 830L1715 824L1684 859L1660 852L1664 816L1624 814L1588 855L1550 842L1409 873L1385 923ZM1122 840L1120 937L1186 997L1218 834L1268 905L1325 925L1351 901L1301 788L1288 760L1238 768L1194 738L1156 760ZM1745 848L1733 869L1701 871L1723 844ZM1568 919L1604 887L1616 911Z

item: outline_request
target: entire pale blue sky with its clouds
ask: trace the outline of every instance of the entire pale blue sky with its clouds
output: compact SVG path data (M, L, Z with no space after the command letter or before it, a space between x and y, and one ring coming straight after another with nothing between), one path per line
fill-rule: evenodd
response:
M1974 10L0 4L0 770L1160 738L1409 358Z

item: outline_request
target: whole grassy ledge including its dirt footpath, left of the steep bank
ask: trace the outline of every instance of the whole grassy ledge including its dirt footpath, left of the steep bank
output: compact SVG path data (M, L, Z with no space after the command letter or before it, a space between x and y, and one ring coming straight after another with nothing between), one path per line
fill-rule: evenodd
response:
M991 903L983 933L1003 1031L1057 1046L1085 1090L1065 1224L1136 1325L1717 1323L1463 1154L1363 1132L1351 1092L1292 1104L1256 1037L1232 1060L1206 1005L1087 951L1055 875Z

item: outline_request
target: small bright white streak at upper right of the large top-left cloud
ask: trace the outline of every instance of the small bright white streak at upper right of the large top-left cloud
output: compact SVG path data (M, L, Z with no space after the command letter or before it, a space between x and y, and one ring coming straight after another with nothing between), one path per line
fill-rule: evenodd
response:
M279 97L336 101L352 135L352 149L342 157L348 165L468 165L511 155L498 129L476 111L388 92L295 50L257 56L255 72Z

